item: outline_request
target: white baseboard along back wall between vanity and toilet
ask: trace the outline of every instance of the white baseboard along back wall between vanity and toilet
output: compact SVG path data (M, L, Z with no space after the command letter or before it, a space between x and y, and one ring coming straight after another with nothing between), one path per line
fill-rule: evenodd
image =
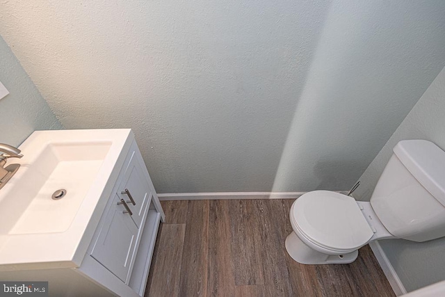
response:
M306 192L214 192L165 193L159 200L220 200L220 199L296 199Z

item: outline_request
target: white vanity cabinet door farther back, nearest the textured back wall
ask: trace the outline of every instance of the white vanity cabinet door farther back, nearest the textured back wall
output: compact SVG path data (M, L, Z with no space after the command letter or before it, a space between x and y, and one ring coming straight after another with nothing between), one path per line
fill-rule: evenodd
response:
M131 218L138 227L140 227L145 206L149 203L151 197L150 194L152 193L143 174L143 165L140 163L141 160L142 156L140 156L138 150L135 150L133 156L131 156L131 160L124 173L124 178L122 179L117 193L120 199L122 198L127 201L127 204L133 213ZM134 204L131 199L133 199Z

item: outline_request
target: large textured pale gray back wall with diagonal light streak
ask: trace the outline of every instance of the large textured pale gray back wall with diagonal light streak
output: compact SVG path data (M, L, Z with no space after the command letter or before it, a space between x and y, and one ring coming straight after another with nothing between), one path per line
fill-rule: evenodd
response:
M159 193L349 188L445 65L445 1L7 1L60 122L130 127Z

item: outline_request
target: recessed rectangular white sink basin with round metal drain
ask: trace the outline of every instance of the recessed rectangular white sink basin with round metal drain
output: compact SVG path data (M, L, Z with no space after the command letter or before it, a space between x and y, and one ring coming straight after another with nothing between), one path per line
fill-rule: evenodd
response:
M111 141L50 141L0 192L0 234L64 232L86 198ZM24 152L33 154L33 152ZM14 161L11 159L10 161ZM26 160L25 160L26 161ZM62 198L51 196L65 190Z

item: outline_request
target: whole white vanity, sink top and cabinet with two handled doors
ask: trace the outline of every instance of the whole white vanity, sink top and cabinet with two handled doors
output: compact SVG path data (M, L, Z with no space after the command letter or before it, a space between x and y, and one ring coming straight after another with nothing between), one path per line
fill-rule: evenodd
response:
M165 215L131 130L35 131L19 148L0 191L0 280L143 296Z

